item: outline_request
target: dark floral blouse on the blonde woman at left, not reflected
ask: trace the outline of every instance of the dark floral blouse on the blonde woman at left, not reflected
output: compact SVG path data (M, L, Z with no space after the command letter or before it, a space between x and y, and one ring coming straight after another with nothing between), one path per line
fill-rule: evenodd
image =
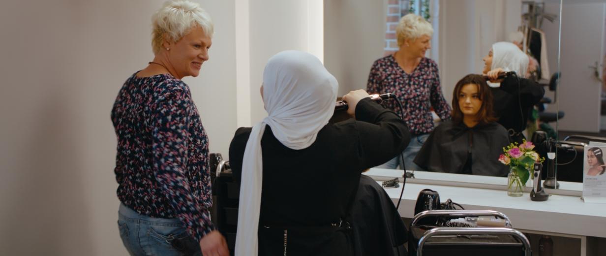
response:
M133 74L118 93L112 123L119 200L142 215L179 218L197 240L213 231L208 136L187 84Z

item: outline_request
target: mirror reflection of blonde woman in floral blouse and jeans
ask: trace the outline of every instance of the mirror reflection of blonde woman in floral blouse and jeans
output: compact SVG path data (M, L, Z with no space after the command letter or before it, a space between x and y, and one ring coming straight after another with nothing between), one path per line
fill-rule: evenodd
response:
M421 170L413 160L433 130L431 107L441 120L450 119L450 106L442 95L438 64L425 58L431 49L431 24L418 15L409 14L396 27L398 52L377 59L370 68L367 90L369 93L394 93L402 103L400 110L393 101L384 106L398 113L413 134L404 150L404 163L400 157L391 159L382 168Z

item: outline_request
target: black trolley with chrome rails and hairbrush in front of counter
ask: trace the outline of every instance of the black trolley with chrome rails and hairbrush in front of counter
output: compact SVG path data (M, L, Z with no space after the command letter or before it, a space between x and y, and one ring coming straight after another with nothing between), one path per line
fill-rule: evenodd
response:
M504 227L476 227L473 220L484 216L500 220ZM435 222L427 224L421 221L424 218ZM408 255L531 255L525 235L511 227L507 216L496 211L419 212L411 221L410 234Z

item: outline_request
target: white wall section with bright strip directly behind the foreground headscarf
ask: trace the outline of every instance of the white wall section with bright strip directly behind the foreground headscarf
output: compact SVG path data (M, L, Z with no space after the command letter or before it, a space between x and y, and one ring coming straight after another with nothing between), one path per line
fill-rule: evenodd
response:
M322 0L255 0L250 4L251 124L265 112L259 88L267 60L283 50L303 50L322 57Z

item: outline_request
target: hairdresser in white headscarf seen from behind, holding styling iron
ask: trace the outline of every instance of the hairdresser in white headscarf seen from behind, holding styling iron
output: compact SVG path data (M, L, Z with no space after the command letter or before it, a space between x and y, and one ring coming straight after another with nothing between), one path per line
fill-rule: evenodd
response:
M268 116L230 145L241 180L236 255L352 255L350 204L360 173L402 152L410 133L364 90L343 97L356 120L328 124L338 83L313 55L271 57Z

